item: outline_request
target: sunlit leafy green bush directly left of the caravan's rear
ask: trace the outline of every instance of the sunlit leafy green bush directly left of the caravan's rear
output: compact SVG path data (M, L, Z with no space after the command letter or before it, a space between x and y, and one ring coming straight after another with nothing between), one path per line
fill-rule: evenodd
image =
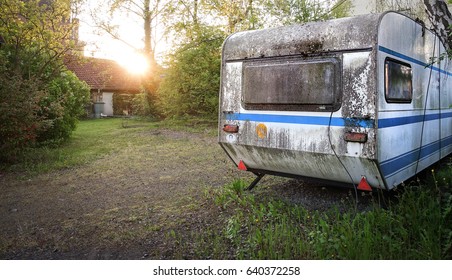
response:
M158 91L165 117L216 117L223 40L220 31L203 28L170 56Z

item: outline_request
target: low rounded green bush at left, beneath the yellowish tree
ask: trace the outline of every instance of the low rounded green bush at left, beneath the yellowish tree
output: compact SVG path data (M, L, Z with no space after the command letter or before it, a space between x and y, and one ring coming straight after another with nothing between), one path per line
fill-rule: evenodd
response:
M35 143L67 140L89 102L89 87L71 72L45 84L36 77L0 77L0 160Z

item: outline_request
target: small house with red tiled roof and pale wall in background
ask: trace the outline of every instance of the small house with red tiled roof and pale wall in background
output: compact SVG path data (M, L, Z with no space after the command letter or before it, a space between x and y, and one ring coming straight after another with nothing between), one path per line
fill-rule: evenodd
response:
M91 88L95 117L132 114L131 100L141 92L140 77L130 74L116 61L94 57L66 59L67 68Z

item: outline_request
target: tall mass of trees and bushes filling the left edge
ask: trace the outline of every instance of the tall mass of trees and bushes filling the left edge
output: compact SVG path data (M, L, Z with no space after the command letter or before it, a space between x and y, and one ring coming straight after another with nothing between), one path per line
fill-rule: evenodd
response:
M67 139L86 103L86 85L66 72L69 2L0 0L0 160L36 141Z

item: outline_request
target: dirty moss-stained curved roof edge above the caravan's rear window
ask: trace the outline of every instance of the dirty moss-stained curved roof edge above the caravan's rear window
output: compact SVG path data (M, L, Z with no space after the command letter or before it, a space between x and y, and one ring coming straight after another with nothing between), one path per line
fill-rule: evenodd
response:
M385 14L238 32L224 42L223 59L245 60L373 48L379 22Z

